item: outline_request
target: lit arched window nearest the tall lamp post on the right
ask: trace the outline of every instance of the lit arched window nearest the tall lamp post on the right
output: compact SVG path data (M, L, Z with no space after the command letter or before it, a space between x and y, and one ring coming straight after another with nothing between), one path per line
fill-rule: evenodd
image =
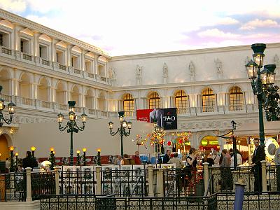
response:
M230 111L239 111L243 109L244 97L240 87L230 88Z

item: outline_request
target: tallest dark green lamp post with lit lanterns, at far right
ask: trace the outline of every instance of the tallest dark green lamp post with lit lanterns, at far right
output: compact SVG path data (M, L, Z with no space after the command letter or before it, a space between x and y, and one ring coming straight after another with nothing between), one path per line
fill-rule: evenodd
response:
M272 87L272 85L274 85L275 80L274 69L276 65L265 65L265 69L261 71L263 59L265 57L265 54L263 52L265 51L266 45L264 43L255 43L251 45L251 48L254 52L253 60L246 64L246 69L248 73L248 78L251 80L253 94L255 94L258 97L259 136L260 144L264 145L265 129L263 125L262 107L265 108L267 120L277 120L277 113L279 113L279 94L276 93L278 87ZM276 98L277 95L278 99ZM276 102L276 107L275 102L273 101Z

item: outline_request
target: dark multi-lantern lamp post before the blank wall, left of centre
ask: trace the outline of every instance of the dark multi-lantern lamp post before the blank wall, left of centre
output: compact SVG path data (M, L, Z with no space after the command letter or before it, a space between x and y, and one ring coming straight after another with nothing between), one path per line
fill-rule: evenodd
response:
M69 121L67 122L66 126L62 126L62 121L64 116L62 113L57 115L57 122L59 123L59 130L64 131L67 129L67 133L70 133L70 165L73 165L73 132L78 133L78 131L85 130L85 122L87 120L87 115L83 113L81 115L83 126L78 127L76 123L76 113L75 113L75 101L69 101Z

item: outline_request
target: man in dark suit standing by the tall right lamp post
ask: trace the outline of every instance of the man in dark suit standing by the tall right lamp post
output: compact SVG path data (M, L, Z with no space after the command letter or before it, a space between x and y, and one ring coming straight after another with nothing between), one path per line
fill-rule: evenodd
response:
M260 139L253 140L255 151L253 153L253 174L255 176L254 191L262 192L262 165L260 161L265 160L265 149L260 145Z

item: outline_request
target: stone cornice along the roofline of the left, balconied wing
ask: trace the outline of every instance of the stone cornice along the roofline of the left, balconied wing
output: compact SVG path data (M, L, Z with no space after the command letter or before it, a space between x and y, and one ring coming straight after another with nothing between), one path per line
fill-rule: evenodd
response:
M109 56L108 52L105 52L104 50L95 47L94 45L90 45L88 43L85 43L84 41L80 41L76 38L73 38L71 36L68 36L66 34L62 34L59 31L55 31L54 29L50 29L48 27L45 27L43 25L40 25L36 22L33 22L31 20L27 20L26 18L22 18L18 15L15 15L13 13L9 13L6 10L0 9L0 17L4 18L10 22L16 22L19 25L22 25L24 27L27 27L29 29L36 30L42 34L47 34L48 36L52 36L54 38L59 38L62 41L65 41L67 43L73 43L74 45L78 45L81 48L84 48L85 50L92 51L94 53L97 53L98 55L103 55L104 57L110 59L111 56Z

